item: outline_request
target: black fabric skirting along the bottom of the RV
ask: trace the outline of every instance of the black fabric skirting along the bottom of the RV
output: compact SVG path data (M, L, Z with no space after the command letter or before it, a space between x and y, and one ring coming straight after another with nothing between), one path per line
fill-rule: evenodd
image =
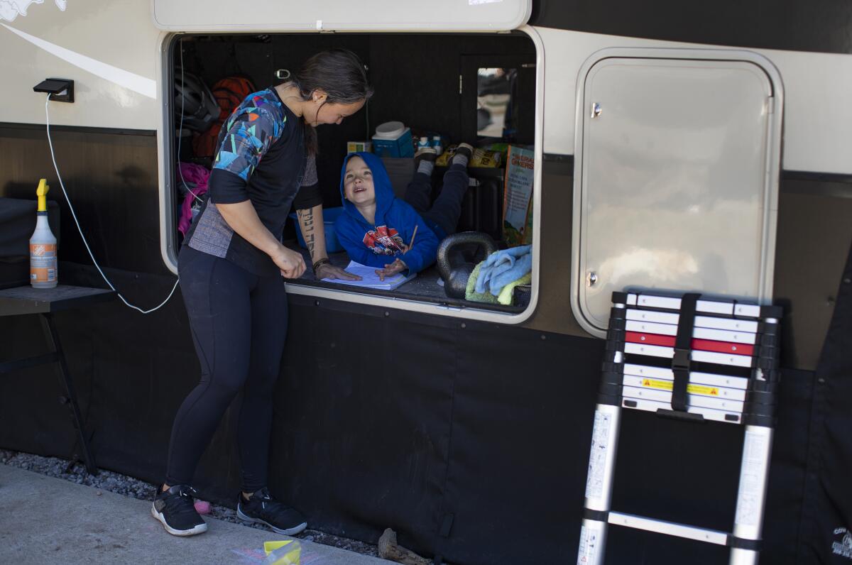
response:
M78 284L93 268L64 264ZM850 276L846 268L843 280ZM111 271L141 303L170 276ZM841 283L818 378L785 368L761 562L829 562L849 526L849 283ZM120 303L57 315L95 461L162 479L172 420L198 381L179 297L139 316ZM291 332L273 393L270 488L312 528L400 544L446 562L576 559L603 341L314 297L289 296ZM37 320L0 320L4 360L43 352ZM0 447L78 451L49 367L0 378ZM741 426L623 413L613 510L730 530ZM233 504L229 410L193 480ZM728 551L610 528L607 563L727 561Z

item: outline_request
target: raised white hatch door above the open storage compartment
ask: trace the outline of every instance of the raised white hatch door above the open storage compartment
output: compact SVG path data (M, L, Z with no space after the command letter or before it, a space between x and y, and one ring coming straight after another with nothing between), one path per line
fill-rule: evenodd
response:
M504 31L532 0L152 0L154 25L176 32Z

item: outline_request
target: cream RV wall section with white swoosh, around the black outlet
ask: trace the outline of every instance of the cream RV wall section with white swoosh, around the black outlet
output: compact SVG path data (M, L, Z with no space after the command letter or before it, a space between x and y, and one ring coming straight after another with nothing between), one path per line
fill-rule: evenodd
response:
M74 81L74 102L50 104L50 123L156 130L158 45L147 3L17 3L0 17L0 122L44 124L45 78ZM11 103L14 101L14 103Z

